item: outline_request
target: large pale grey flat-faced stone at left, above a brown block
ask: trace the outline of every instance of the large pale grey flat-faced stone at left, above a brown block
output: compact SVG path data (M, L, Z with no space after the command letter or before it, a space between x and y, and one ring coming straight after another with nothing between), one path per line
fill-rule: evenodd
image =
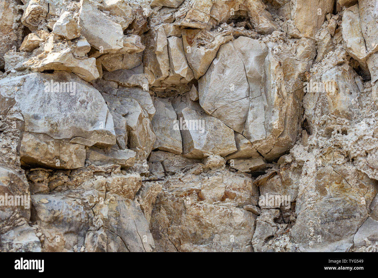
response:
M2 95L15 99L25 131L54 139L83 137L105 146L115 144L113 119L101 94L75 75L33 73L0 82Z

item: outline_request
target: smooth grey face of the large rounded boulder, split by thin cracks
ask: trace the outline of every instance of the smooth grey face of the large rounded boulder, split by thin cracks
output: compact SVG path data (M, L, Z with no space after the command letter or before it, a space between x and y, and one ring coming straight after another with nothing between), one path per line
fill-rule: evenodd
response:
M240 134L243 130L251 136L258 134L256 130L249 129L259 125L252 124L251 118L246 120L248 115L257 112L253 111L254 107L260 109L256 114L260 117L263 115L263 105L259 101L261 98L257 97L261 96L263 61L266 54L264 43L239 37L220 47L206 75L198 81L199 99L203 109ZM255 98L259 103L257 106ZM264 121L265 119L262 120Z

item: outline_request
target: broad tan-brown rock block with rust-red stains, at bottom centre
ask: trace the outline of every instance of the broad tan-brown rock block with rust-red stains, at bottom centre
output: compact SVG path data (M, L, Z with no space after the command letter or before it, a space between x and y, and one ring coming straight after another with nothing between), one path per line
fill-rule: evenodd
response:
M254 194L250 178L228 171L172 177L152 211L157 251L251 251L256 215L232 204L248 205Z

